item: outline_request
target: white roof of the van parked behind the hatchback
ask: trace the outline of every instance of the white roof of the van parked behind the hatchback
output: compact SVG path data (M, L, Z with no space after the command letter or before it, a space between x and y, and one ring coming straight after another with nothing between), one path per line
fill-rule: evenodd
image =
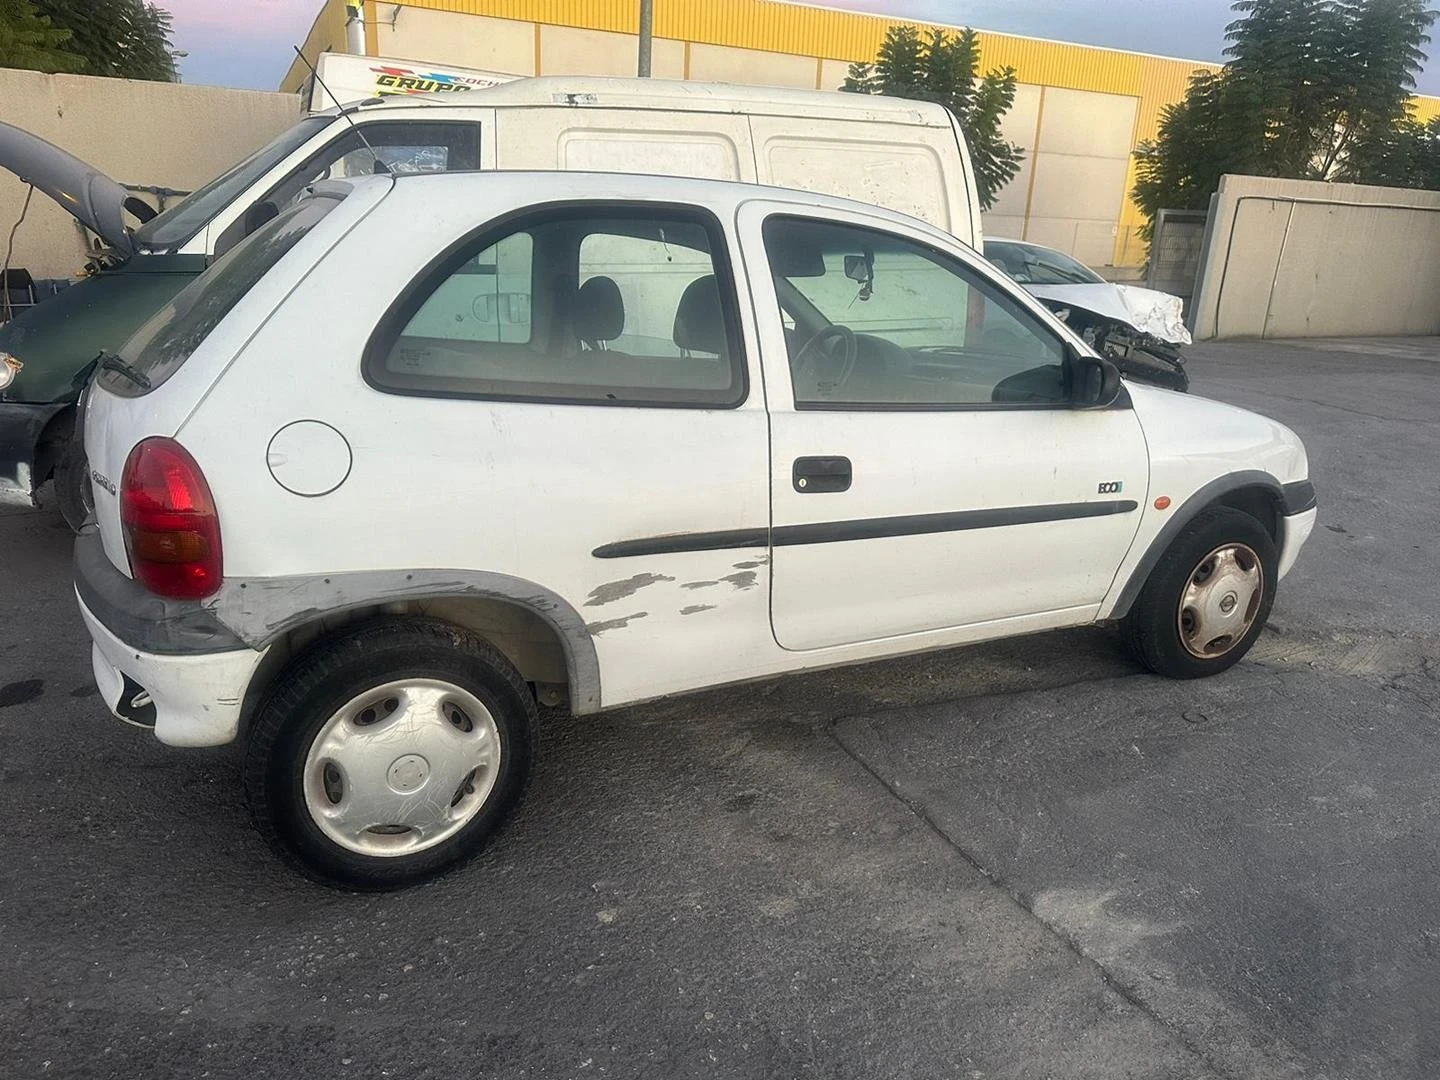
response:
M747 115L831 115L893 124L949 127L943 105L873 94L739 86L729 82L675 79L618 79L541 75L465 94L413 94L369 99L363 111L426 105L461 108L494 105L564 105L569 108L670 109L680 112L737 112ZM350 107L347 107L350 108ZM327 109L328 112L330 109Z

